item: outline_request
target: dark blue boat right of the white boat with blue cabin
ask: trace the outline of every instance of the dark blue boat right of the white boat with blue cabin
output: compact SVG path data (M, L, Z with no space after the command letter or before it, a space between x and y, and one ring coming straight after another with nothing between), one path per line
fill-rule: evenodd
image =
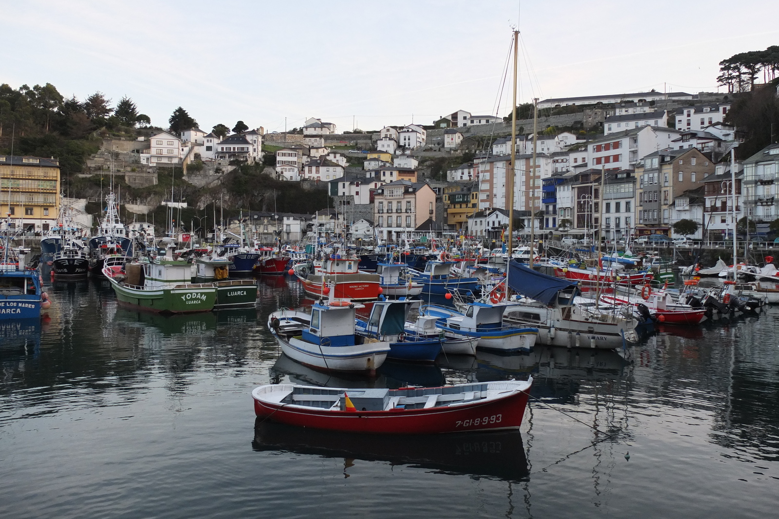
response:
M390 343L387 358L434 362L441 352L443 337L420 337L405 330L412 301L379 301L373 303L368 322L356 320L354 329L364 337Z

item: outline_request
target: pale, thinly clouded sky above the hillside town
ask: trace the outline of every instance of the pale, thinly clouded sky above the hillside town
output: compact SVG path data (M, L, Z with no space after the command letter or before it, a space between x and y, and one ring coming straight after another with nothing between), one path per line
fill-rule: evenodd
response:
M518 102L717 91L718 62L779 44L775 0L592 2L46 2L0 0L0 83L131 97L153 125L182 106L209 131L239 119L340 131L510 111ZM286 122L286 123L285 123Z

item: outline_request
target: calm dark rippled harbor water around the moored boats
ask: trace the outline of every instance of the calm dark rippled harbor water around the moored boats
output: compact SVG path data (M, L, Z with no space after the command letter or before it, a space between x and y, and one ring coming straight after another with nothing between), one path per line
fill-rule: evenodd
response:
M162 317L122 309L107 282L56 282L50 320L0 324L0 517L776 513L779 309L665 327L624 352L479 353L344 380L280 357L266 317L303 292L258 284L256 309ZM538 400L519 433L497 435L256 427L250 396L270 381L530 374Z

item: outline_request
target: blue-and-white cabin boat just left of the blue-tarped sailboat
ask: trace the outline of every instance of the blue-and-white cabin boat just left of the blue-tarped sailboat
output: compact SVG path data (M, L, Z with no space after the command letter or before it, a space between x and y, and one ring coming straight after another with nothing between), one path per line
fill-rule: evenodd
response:
M503 323L507 305L467 303L465 312L439 305L424 305L420 313L438 317L438 327L446 332L478 337L477 348L504 352L532 351L538 328L513 327Z

